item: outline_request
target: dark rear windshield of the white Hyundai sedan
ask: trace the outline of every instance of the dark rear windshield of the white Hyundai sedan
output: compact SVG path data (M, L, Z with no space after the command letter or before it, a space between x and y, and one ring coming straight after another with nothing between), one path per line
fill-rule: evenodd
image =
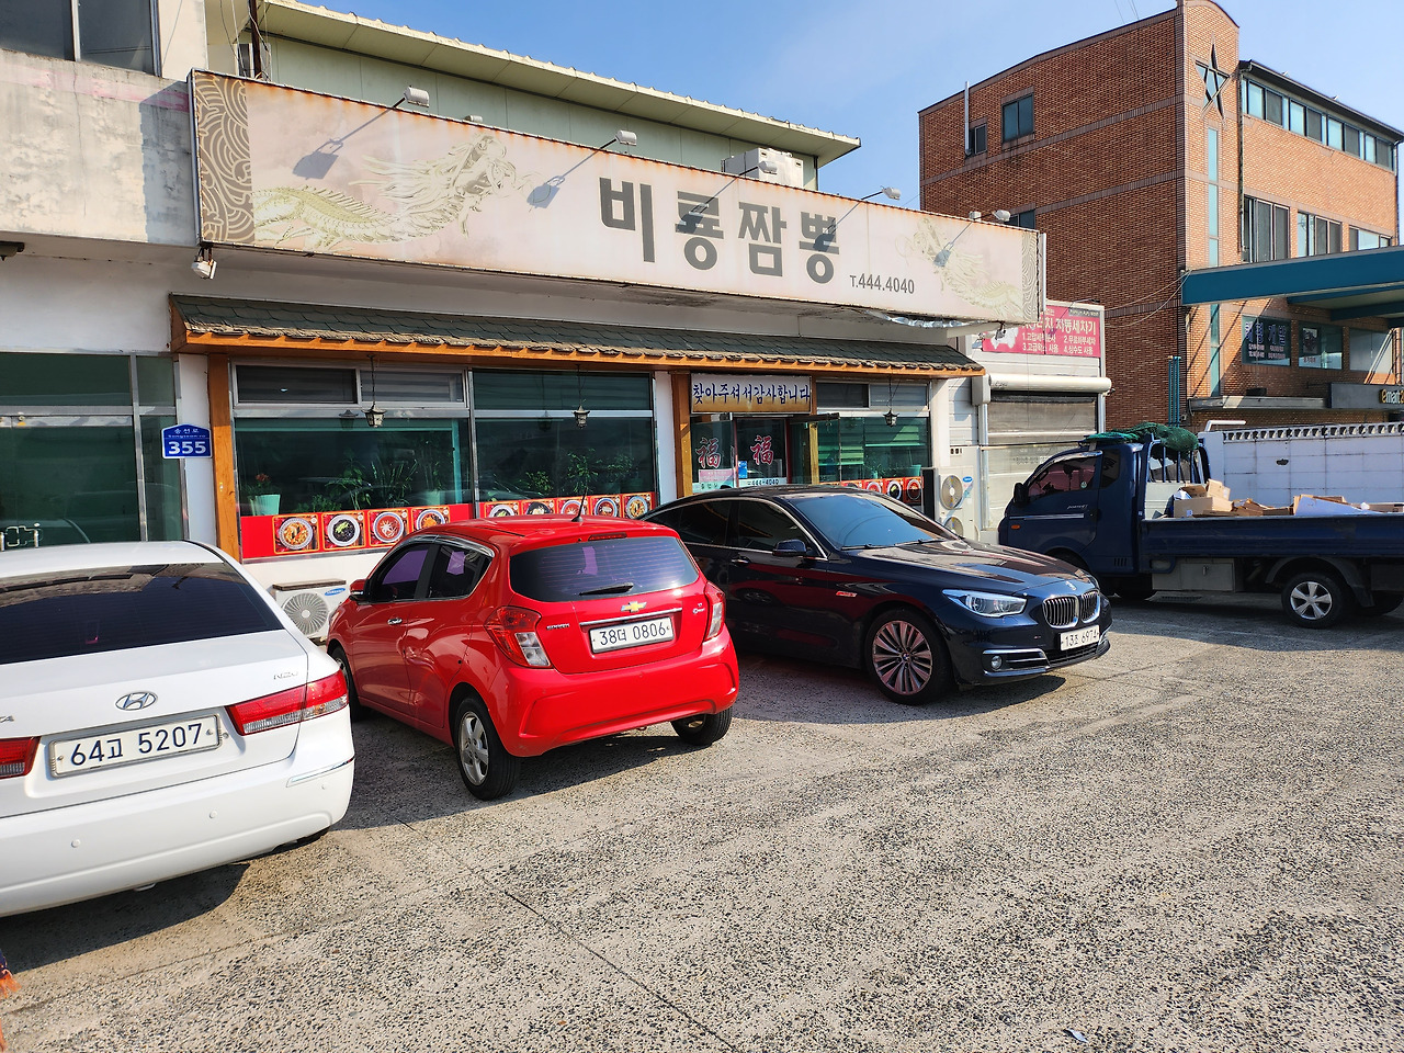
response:
M0 580L0 664L279 628L257 590L223 563Z

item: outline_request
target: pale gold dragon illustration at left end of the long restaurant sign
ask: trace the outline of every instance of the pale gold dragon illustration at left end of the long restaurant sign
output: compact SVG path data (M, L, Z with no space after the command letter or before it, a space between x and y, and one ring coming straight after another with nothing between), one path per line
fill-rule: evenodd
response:
M493 135L473 136L432 160L366 157L365 167L372 177L351 185L375 187L379 197L399 205L396 211L329 187L256 190L258 240L278 246L300 240L303 249L330 250L343 241L409 241L435 234L455 220L466 237L470 213L526 183L507 160L505 145Z

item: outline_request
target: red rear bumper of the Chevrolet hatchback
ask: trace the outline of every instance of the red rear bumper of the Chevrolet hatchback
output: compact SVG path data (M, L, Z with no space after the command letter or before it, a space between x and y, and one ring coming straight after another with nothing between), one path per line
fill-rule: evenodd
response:
M692 653L612 673L504 671L493 723L508 753L535 757L566 743L717 713L736 702L740 675L726 630Z

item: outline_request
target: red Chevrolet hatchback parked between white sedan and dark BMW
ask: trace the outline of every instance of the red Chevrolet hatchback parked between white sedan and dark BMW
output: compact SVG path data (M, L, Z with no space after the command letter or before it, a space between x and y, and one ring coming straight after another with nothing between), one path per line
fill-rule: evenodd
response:
M327 633L352 713L452 743L469 792L508 793L522 757L671 722L731 724L722 592L678 535L632 519L510 517L413 534L351 585Z

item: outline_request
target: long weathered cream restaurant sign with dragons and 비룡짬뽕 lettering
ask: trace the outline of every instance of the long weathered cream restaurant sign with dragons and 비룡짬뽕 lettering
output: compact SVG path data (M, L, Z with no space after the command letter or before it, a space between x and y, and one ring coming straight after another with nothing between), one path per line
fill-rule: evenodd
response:
M1031 323L1038 234L191 74L202 241Z

